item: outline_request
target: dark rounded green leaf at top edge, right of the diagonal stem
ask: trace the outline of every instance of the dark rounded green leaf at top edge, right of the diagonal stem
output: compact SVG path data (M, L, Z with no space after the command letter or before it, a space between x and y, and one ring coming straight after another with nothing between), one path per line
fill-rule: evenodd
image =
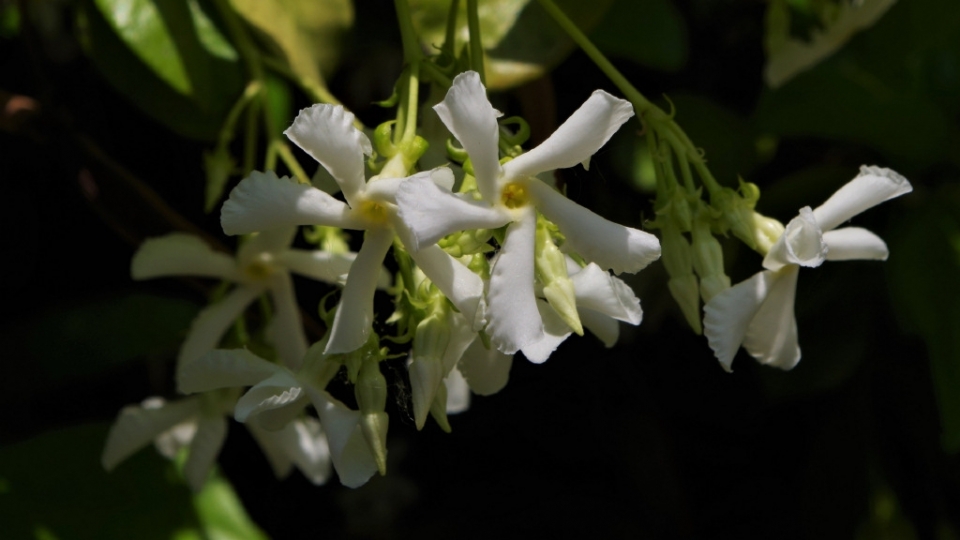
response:
M604 54L663 71L687 62L687 26L668 0L614 2L590 38Z

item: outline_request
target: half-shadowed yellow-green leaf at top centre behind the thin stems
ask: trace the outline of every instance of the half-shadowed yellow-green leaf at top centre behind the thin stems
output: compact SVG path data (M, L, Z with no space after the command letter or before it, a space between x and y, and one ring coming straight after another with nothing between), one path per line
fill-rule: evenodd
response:
M613 0L557 0L557 6L580 29L589 32L613 4ZM444 41L448 0L411 0L414 27L428 47ZM542 76L559 64L575 45L540 4L531 0L491 0L480 5L480 29L487 51L486 84L491 90L511 88ZM459 51L468 38L466 2L457 17Z

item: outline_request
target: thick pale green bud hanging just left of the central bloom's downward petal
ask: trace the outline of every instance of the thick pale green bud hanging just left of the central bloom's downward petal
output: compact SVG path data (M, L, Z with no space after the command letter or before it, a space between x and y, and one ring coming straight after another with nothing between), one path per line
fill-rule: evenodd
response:
M450 325L442 310L420 321L413 338L413 360L407 371L413 386L413 418L417 429L423 429L427 414L443 384L443 352L450 342Z

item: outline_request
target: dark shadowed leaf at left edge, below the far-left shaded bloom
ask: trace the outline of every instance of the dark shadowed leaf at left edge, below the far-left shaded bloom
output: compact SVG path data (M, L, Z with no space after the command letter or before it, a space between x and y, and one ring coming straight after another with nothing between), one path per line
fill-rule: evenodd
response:
M95 377L150 354L173 355L197 311L184 300L131 294L60 307L6 328L0 339L20 361L15 377L0 376L0 400Z

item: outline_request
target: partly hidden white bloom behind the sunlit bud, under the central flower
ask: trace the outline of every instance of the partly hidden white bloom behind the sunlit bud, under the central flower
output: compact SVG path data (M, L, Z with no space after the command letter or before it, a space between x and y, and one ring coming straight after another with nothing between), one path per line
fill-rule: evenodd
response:
M634 326L640 324L643 319L640 299L621 279L611 276L594 263L580 268L569 257L567 272L573 281L577 312L583 326L600 338L605 346L613 347L620 336L620 324L617 321ZM570 337L573 330L547 302L538 299L537 308L543 317L544 337L524 348L523 352L530 360L545 361Z

